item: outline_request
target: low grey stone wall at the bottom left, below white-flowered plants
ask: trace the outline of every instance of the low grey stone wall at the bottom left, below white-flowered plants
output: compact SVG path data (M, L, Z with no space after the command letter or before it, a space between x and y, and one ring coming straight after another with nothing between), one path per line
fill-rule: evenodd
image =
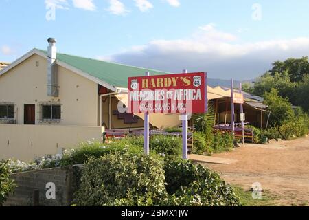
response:
M39 191L39 206L70 206L76 187L73 170L79 170L79 166L73 166L73 169L49 168L12 174L17 187L3 206L34 206L34 190ZM55 184L55 199L47 199L47 183Z

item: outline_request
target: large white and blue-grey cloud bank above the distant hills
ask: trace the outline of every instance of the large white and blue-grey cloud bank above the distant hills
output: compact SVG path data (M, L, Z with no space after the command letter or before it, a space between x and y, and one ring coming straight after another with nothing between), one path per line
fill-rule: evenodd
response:
M206 71L210 78L252 79L289 57L308 56L309 38L274 39L242 43L214 24L198 28L187 39L155 39L117 54L108 60L168 72Z

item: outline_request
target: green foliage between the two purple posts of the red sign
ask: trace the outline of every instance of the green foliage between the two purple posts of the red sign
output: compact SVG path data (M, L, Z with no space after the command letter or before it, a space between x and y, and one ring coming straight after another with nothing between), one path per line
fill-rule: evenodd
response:
M152 135L149 142L150 151L155 151L165 156L181 155L181 137L174 135Z

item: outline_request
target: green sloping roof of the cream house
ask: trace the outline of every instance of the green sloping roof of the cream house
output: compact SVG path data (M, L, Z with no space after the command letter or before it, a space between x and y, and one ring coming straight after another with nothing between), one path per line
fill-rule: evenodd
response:
M46 50L40 51L47 54ZM69 54L57 53L57 60L80 69L82 72L98 78L111 86L122 88L128 87L128 77L130 76L145 76L145 72L150 72L151 75L171 74L169 72L161 72L154 69L110 63Z

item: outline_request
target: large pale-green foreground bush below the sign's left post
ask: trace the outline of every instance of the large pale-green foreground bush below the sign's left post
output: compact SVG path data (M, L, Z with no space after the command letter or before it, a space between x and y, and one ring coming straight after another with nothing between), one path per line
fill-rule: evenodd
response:
M89 159L82 170L77 206L153 206L165 197L163 162L133 153Z

